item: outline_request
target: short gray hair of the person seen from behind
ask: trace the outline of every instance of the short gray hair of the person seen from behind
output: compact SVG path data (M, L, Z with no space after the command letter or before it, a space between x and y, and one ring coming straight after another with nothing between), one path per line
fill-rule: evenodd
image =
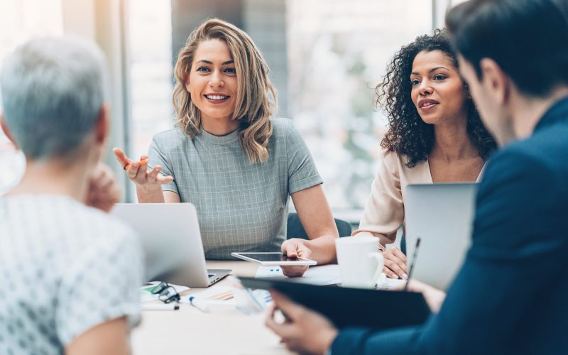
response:
M38 38L0 73L4 119L27 158L65 157L82 145L104 102L104 57L87 40Z

